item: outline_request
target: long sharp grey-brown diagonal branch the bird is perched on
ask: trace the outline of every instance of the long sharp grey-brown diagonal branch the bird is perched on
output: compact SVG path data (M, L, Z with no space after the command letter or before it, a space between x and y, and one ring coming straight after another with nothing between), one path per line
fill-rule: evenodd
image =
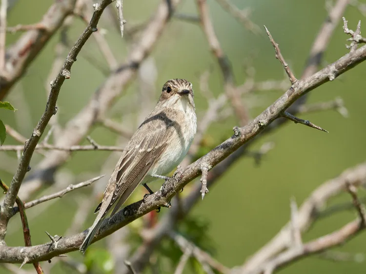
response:
M144 201L140 200L133 203L112 217L106 218L102 223L99 233L94 238L94 241L110 235L133 220L169 202L188 182L199 176L202 164L208 163L212 167L216 166L244 143L257 136L271 122L281 117L282 112L284 112L296 99L329 81L330 74L339 76L365 59L366 46L363 46L352 53L346 54L341 59L328 65L314 75L297 81L284 93L284 95L278 98L252 122L239 128L238 136L234 135L228 138L205 156L190 164L180 176L175 176L174 178L167 180L159 191L146 197ZM179 180L177 180L176 177L179 177ZM22 261L24 256L28 256L28 258L31 259L30 262L48 260L58 254L77 250L81 245L85 234L86 231L70 237L61 238L56 246L47 243L33 247L25 247L22 248L23 252L21 253L19 247L4 246L0 249L0 262L17 263Z

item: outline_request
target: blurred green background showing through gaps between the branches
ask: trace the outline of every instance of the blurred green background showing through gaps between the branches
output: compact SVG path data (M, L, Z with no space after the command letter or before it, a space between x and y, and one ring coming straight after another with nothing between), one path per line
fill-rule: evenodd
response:
M52 0L18 0L9 12L8 25L38 22L52 3ZM158 0L125 0L124 17L127 20L127 26L148 19L159 3ZM313 40L327 16L325 1L232 0L232 3L239 8L253 9L251 20L261 27L266 25L273 38L280 44L282 54L295 75L300 77ZM238 84L245 81L244 63L248 58L251 59L256 69L256 80L284 78L284 70L280 62L275 59L273 47L263 30L260 35L255 36L245 30L216 1L208 0L208 4L216 34L224 52L232 62ZM142 6L144 9L141 8ZM195 1L184 0L179 6L179 13L196 14ZM348 6L345 17L349 21L348 27L352 29L355 28L358 20L365 20L365 17L353 6ZM108 30L105 38L110 42L115 56L122 62L128 52L126 42L121 39L118 30L108 24L105 15L102 19L104 20L101 21L99 28ZM83 22L75 19L68 32L70 41L75 41L83 28ZM58 34L48 42L7 97L7 100L18 108L18 111L14 114L0 110L0 117L4 123L16 128L25 137L31 135L45 107L47 98L44 83L53 63L54 47L59 40ZM11 44L19 36L20 34L8 34L7 44ZM340 23L326 50L322 66L339 59L348 52L345 47L346 39L348 37L344 34ZM61 89L58 100L58 115L61 125L79 112L105 79L100 70L91 66L83 58L83 52L94 55L102 62L104 68L107 68L94 39L89 39L72 68L71 79L65 81ZM64 52L63 56L66 57L66 55L67 52ZM196 106L199 113L202 113L207 102L200 92L198 76L211 66L213 66L213 71L209 80L210 89L215 95L223 92L220 70L198 24L173 19L155 47L152 57L158 71L156 90L152 96L153 104L158 99L161 87L167 79L186 78L193 83ZM289 220L290 197L294 196L300 205L325 180L338 176L346 168L365 161L365 69L366 63L362 63L335 81L326 83L310 92L308 103L329 101L338 96L345 101L349 112L348 118L342 117L335 111L301 116L325 128L329 134L299 124L287 123L271 135L260 138L251 147L251 150L255 150L266 141L275 143L274 149L264 157L260 166L255 165L253 158L241 158L215 183L204 200L197 203L190 218L199 219L207 225L202 233L207 236L206 245L213 248L214 257L218 261L228 267L243 264L246 258L276 235ZM126 95L120 98L111 109L111 117L119 118L121 110L131 104L131 96L136 88L136 83L129 87ZM255 117L283 92L283 90L258 92L245 97L244 102L250 107L251 116ZM17 102L20 103L17 104ZM135 119L138 118L135 117ZM131 124L136 126L136 122L130 123L129 126ZM215 123L206 138L213 144L219 144L232 135L232 128L235 125L237 125L235 118ZM116 134L103 128L96 128L90 135L99 144L115 145L116 143ZM17 142L8 136L5 144L17 144ZM4 154L4 152L0 154ZM17 161L15 153L6 154L7 158L11 157L14 160L14 168L7 171L1 168L0 177L6 182L10 182ZM59 172L74 174L76 177L73 182L77 183L82 179L99 175L100 168L109 155L109 152L93 151L74 153ZM36 166L40 159L40 155L34 155L31 166ZM5 163L0 163L0 166L3 164ZM6 166L8 165L9 162ZM114 163L111 168L113 166ZM98 183L96 182L96 184ZM158 187L159 184L154 185L154 188ZM104 185L100 189L102 191ZM91 195L90 188L77 190L64 196L52 203L41 214L38 214L37 207L28 210L33 245L48 241L44 231L53 235L64 235L75 214L76 199L81 193ZM143 190L140 190L139 196L135 196L134 199L141 198L142 193ZM359 194L364 196L364 191ZM99 197L95 196L95 206L99 203L98 199ZM350 197L344 194L340 198L332 200L331 203L349 200ZM159 217L164 212L166 209L162 210ZM321 219L304 235L304 241L337 230L355 216L356 213L352 210ZM82 229L91 225L93 218L94 216L90 214ZM133 226L131 228L133 229ZM10 222L6 242L9 246L23 245L18 216L12 218ZM103 241L96 246L102 247ZM351 254L363 254L366 252L365 246L366 235L363 233L347 242L340 250ZM78 252L68 255L78 260L82 259ZM44 264L47 262L43 262L41 265ZM280 270L279 273L342 274L347 271L361 274L365 273L365 267L366 262L364 261L360 263L333 262L315 255L291 264ZM31 266L24 268L31 269ZM52 273L66 271L73 273L69 268L60 265L52 269ZM0 273L6 272L0 268ZM150 273L150 271L147 270L146 273ZM161 273L170 273L169 268L167 270L162 268ZM192 267L187 266L185 273L195 272Z

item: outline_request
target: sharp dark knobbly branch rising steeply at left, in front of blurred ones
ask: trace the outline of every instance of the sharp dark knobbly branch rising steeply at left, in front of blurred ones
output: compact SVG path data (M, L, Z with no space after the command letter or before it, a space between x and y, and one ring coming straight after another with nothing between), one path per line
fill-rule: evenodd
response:
M6 227L11 216L11 210L13 208L15 199L18 195L20 185L24 179L25 173L28 171L30 160L33 156L33 152L36 149L37 143L39 142L50 118L56 114L56 101L59 96L61 86L65 79L70 78L70 69L72 64L76 61L76 57L81 51L82 46L85 44L86 40L91 36L91 34L97 31L97 24L102 15L104 8L111 3L111 0L103 0L101 4L95 4L95 12L93 17L86 27L84 32L81 34L80 38L76 41L75 45L69 52L59 75L55 80L51 82L51 92L48 97L46 109L42 114L37 127L33 131L32 136L25 143L23 154L20 158L20 163L16 174L11 181L9 191L6 193L4 202L1 206L0 211L0 241L4 240Z

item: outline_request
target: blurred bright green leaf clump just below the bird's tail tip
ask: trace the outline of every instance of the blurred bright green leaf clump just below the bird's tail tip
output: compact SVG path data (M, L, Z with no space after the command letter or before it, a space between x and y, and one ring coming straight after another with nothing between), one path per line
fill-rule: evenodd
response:
M85 254L84 264L88 271L96 270L105 274L113 273L112 255L105 249L89 247Z

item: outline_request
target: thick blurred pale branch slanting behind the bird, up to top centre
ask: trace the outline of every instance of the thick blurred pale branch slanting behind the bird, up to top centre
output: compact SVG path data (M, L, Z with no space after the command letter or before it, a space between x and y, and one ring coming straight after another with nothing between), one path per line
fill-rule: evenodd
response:
M172 0L175 8L181 0ZM139 65L145 60L154 48L160 38L163 30L169 21L169 10L166 0L162 0L158 6L153 18L142 31L141 39L131 48L126 62L102 83L100 88L91 96L86 106L72 119L70 119L62 134L58 137L55 145L61 147L70 147L81 142L88 134L90 129L102 118L106 116L107 111L116 102L127 89L128 85L136 76ZM52 151L41 160L37 166L37 174L27 183L34 183L35 188L40 188L43 182L48 181L49 170L55 172L70 156L67 151ZM30 195L29 192L21 193L20 197Z

